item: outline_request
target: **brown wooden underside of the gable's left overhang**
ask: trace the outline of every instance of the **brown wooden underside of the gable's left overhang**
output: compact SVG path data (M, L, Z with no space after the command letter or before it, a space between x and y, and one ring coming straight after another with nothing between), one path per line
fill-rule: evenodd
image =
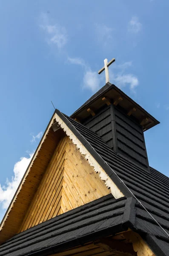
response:
M63 136L64 132L62 130L54 133L52 128L46 134L32 166L28 167L28 169L30 168L29 175L26 174L25 179L21 181L20 190L14 195L14 203L7 210L6 220L1 222L0 243L10 239L20 230L23 218L46 171L46 167L49 165L58 140Z

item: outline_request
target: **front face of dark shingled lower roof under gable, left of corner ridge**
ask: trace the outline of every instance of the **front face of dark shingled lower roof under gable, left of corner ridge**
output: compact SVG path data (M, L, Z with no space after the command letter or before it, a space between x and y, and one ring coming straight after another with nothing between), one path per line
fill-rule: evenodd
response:
M0 256L49 255L92 240L93 233L99 237L126 230L121 225L125 205L126 198L106 195L19 233L0 246Z

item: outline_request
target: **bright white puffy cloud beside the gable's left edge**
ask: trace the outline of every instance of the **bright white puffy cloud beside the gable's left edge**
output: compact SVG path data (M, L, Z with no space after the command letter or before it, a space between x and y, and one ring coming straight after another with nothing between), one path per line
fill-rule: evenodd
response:
M2 204L3 209L7 209L20 181L33 157L34 153L29 154L29 157L21 157L20 160L14 165L14 176L12 176L11 181L7 178L6 185L1 186L0 184L0 204Z

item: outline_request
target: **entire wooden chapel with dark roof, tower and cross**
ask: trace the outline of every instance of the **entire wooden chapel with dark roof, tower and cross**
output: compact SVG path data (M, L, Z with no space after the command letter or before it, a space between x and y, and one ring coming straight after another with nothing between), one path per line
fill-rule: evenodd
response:
M71 116L54 111L1 222L0 256L169 256L169 177L144 140L159 122L106 79Z

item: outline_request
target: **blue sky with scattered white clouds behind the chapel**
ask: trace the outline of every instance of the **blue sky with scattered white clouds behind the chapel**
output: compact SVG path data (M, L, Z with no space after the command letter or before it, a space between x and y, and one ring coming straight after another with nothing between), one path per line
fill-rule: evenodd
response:
M54 106L70 115L111 82L161 123L149 164L169 175L168 0L0 1L0 219Z

